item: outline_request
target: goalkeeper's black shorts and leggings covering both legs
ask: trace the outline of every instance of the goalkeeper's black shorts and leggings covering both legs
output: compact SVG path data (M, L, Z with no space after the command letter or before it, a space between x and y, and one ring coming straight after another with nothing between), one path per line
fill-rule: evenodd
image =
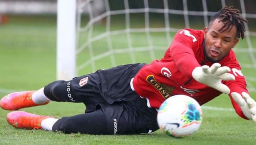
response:
M53 130L85 134L139 134L157 130L157 111L148 108L147 101L130 87L130 80L143 65L120 65L45 86L44 93L50 100L86 105L85 114L63 117L53 125Z

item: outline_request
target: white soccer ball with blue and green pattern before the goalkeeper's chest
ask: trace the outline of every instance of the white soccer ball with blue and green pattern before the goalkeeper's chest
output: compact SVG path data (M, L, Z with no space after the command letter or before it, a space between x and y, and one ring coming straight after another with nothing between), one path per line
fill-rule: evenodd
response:
M199 103L186 95L174 95L160 106L157 122L162 132L174 138L194 134L203 120Z

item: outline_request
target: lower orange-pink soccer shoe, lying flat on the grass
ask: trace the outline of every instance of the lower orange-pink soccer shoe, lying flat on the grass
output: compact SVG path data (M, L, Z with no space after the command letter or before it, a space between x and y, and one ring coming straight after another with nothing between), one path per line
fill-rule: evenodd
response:
M6 120L11 126L23 129L41 129L41 122L52 116L41 116L25 111L13 111L7 114Z

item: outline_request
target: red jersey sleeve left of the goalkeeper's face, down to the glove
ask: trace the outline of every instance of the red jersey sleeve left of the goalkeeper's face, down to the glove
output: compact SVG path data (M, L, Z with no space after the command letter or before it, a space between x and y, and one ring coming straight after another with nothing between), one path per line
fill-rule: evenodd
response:
M202 33L192 29L182 29L174 36L173 42L166 51L162 62L167 62L171 59L180 72L190 78L192 77L192 71L197 66L200 66L199 61L204 59L202 52Z

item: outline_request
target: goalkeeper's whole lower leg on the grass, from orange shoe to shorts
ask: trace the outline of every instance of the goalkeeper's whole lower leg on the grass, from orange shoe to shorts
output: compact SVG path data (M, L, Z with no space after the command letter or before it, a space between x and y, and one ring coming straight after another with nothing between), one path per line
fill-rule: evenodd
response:
M97 110L61 119L40 116L24 111L7 115L8 123L16 128L43 129L83 134L140 134L158 129L157 111L147 108L146 100L122 104L101 104Z

